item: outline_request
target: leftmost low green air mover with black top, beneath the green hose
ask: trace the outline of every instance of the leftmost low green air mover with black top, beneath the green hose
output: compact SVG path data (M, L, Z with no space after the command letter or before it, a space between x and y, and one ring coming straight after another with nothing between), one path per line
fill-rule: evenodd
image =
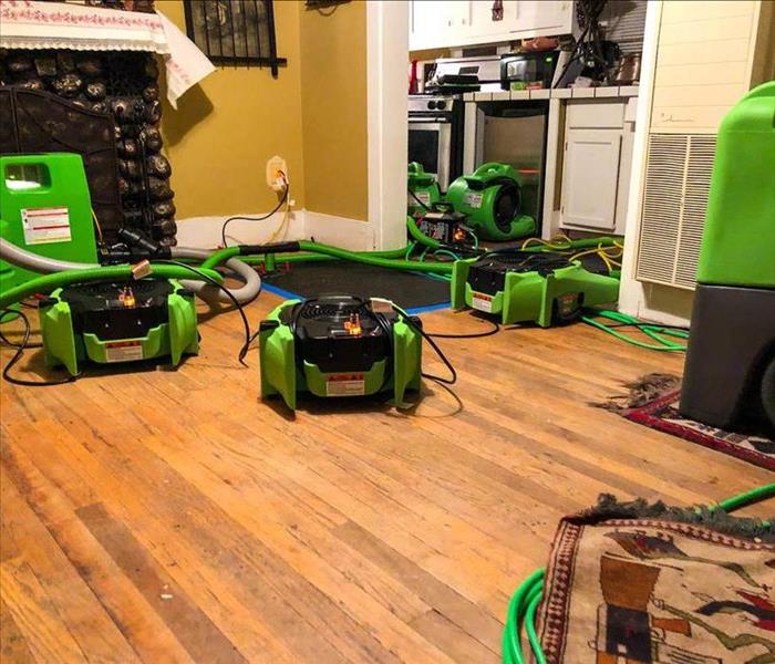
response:
M56 289L40 302L40 325L49 366L100 364L169 356L199 349L194 293L177 281L80 283Z

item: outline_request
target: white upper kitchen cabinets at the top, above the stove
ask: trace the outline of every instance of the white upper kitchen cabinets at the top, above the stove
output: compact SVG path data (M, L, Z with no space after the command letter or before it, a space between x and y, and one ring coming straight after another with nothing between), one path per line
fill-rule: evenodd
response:
M503 18L493 20L492 0L412 0L410 50L507 42L538 35L569 34L571 0L504 0Z

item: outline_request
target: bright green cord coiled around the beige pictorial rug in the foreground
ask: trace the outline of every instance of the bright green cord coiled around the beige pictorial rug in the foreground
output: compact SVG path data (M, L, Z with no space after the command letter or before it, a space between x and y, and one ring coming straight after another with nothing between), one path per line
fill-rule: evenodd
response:
M710 509L712 511L722 509L725 512L733 512L747 505L754 505L769 498L775 498L775 484L756 487L744 494L733 496L722 500L719 505L712 506ZM772 527L772 523L768 521L765 521L765 525ZM521 646L523 627L527 633L527 641L537 664L546 664L546 656L536 632L536 611L544 592L545 574L546 568L533 572L519 584L519 588L512 596L512 601L508 603L506 626L504 627L502 642L504 664L526 663L527 660Z

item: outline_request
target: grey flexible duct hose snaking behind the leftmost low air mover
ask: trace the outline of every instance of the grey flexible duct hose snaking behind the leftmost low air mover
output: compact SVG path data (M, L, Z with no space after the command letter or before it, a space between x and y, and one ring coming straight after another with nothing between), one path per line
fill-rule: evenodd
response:
M205 260L210 256L210 251L206 249L188 249L185 247L175 247L170 250L173 258L194 258L197 260ZM32 253L27 251L17 245L9 242L8 240L0 238L0 258L3 260L19 266L20 268L25 268L33 272L64 272L68 270L97 270L104 269L99 263L78 263L65 260L56 260L54 258L48 258L45 256L39 256L38 253ZM234 272L239 274L245 281L245 286L236 290L230 291L235 299L240 303L246 303L254 300L258 293L261 291L261 278L258 276L256 270L250 266L244 263L239 259L230 259L226 261L226 266ZM155 271L155 273L158 273ZM180 270L179 277L188 277L188 279L182 279L180 283L194 291L206 302L224 302L230 303L229 297L224 293L220 289L214 287L210 283L192 280L190 273L185 273ZM107 279L107 277L105 277ZM218 280L221 281L220 279ZM72 282L69 282L72 283ZM43 291L39 291L43 292Z

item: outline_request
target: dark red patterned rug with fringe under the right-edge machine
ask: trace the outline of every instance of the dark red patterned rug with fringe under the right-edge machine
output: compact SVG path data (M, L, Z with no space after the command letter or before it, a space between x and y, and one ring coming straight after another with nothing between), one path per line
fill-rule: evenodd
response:
M668 374L650 374L627 387L629 394L598 405L650 428L712 447L761 468L775 470L775 440L772 438L725 432L683 417L679 413L680 378Z

